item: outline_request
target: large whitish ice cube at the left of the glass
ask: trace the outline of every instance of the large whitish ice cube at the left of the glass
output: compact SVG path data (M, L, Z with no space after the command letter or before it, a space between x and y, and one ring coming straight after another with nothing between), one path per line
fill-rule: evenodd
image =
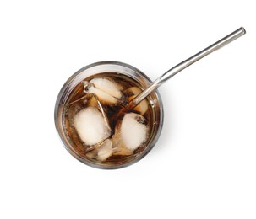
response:
M111 135L106 118L95 107L87 107L74 115L74 127L80 139L88 146L105 140Z

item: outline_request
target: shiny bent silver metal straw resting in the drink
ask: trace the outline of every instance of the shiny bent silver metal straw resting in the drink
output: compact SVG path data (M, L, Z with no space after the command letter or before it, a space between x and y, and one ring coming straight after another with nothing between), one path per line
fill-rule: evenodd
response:
M139 104L143 99L145 99L150 93L155 91L159 86L161 86L162 83L165 83L168 79L176 75L178 72L181 72L186 67L189 67L194 62L199 61L199 59L204 58L204 56L209 55L211 52L216 51L220 49L222 46L229 44L233 40L237 40L238 37L244 35L246 33L244 28L239 28L236 31L232 32L230 35L226 35L221 40L215 42L213 45L208 46L203 51L199 51L199 53L191 56L185 61L182 61L181 63L177 64L177 66L172 67L170 70L168 70L166 73L161 75L161 77L158 77L155 82L150 84L150 87L145 88L142 93L139 93L137 97L132 99L128 106L123 111L128 111L130 109L133 109L137 104Z

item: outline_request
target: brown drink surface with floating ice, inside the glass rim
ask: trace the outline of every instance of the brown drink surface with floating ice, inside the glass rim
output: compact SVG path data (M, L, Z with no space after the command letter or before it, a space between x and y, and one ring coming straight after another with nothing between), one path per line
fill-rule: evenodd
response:
M156 125L151 97L120 114L141 91L133 78L111 72L84 78L71 91L63 108L63 126L80 158L112 166L144 152Z

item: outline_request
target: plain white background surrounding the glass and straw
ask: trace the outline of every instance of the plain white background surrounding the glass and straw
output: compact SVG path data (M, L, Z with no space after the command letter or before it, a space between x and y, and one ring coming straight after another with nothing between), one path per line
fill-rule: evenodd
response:
M1 1L1 218L256 218L254 1ZM139 163L79 163L55 131L63 83L95 61L155 79L244 26L161 88Z

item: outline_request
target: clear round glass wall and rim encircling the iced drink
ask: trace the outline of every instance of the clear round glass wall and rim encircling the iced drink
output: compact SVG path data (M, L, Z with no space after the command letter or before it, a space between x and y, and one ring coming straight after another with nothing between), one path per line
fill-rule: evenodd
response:
M89 66L83 67L78 72L75 72L72 77L68 78L68 81L63 85L60 93L57 96L57 102L55 105L55 126L57 132L63 142L64 147L80 162L90 165L95 168L123 168L130 164L138 162L141 158L150 152L152 147L155 146L163 125L163 106L160 94L155 91L148 96L149 108L150 108L150 130L148 131L148 138L145 142L145 146L140 148L139 152L131 156L120 157L119 159L106 159L106 161L100 162L93 158L85 156L81 147L78 146L70 137L70 133L67 131L67 110L68 104L71 104L71 99L74 99L74 93L82 88L82 82L87 78L94 78L104 74L104 76L112 75L116 77L131 78L136 86L144 90L148 88L152 83L150 78L143 72L140 72L137 68L128 64L117 61L101 61ZM82 97L83 99L83 97ZM133 137L133 136L131 136Z

